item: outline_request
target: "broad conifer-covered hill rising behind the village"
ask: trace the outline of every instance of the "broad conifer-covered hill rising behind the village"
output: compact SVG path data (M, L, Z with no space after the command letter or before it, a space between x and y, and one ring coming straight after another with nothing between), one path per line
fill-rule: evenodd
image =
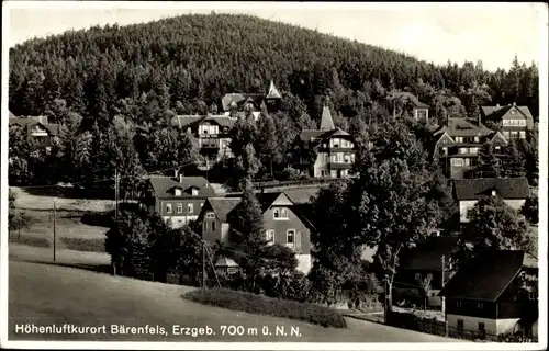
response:
M66 103L88 118L107 122L125 111L141 123L159 113L203 113L224 93L265 92L272 79L313 118L318 94L328 93L334 109L352 117L383 109L389 92L405 89L439 118L512 102L537 116L538 69L512 60L508 71L488 72L480 63L439 67L254 16L194 14L18 45L10 49L9 102L15 115Z

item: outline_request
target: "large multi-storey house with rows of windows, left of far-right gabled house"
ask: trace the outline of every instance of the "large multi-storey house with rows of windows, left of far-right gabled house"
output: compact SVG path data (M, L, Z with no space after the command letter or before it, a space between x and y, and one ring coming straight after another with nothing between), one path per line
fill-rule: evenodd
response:
M491 144L497 151L507 145L500 132L494 132L481 123L480 118L449 117L446 125L433 133L435 150L446 177L467 178L479 165L479 151L484 144Z

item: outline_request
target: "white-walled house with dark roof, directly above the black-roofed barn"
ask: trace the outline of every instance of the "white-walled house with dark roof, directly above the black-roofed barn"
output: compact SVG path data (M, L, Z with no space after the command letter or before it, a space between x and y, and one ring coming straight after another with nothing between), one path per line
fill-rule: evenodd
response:
M500 196L520 211L530 196L530 188L526 178L462 179L453 182L453 196L459 203L460 222L467 223L469 211L484 196Z

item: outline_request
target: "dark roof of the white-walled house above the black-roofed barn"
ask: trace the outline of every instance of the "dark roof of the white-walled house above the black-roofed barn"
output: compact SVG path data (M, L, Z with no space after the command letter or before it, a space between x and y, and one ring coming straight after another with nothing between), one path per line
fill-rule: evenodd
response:
M503 199L527 199L530 195L526 178L461 179L453 182L457 200L478 200L490 196L495 190Z

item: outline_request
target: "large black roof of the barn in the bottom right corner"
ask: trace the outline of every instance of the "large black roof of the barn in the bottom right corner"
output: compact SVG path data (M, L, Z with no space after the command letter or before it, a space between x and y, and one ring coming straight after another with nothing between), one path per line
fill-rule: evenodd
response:
M439 296L495 302L520 272L523 261L524 251L480 252L456 273Z

